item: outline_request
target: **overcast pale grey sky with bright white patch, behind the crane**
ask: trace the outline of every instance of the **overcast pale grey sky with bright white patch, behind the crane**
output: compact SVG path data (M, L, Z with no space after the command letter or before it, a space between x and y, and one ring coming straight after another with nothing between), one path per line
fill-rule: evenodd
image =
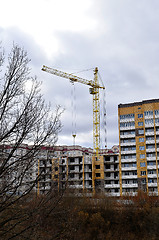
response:
M92 96L77 83L73 102L69 80L42 72L43 64L69 73L99 68L108 147L118 144L118 104L159 98L158 0L5 0L0 36L7 51L13 42L24 47L46 101L65 108L58 144L73 144L74 103L76 144L92 147ZM77 75L93 79L93 70Z

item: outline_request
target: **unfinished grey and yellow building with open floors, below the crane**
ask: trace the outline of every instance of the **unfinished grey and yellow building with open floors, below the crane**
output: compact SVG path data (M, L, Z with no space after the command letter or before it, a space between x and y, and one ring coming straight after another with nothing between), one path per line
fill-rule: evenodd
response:
M76 193L103 192L119 196L118 146L102 150L96 159L91 148L56 146L47 148L47 156L39 152L38 193L53 187ZM46 152L46 147L41 151ZM50 153L52 152L52 155ZM41 156L40 156L41 155Z

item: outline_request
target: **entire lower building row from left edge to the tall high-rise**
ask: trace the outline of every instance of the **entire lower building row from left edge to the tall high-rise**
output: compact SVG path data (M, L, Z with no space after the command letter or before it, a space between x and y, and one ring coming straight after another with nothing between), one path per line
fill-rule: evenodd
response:
M37 194L66 188L78 194L103 192L119 196L118 150L118 146L101 150L97 159L93 149L81 146L42 146L36 154L26 144L18 148L0 146L0 167L7 160L8 169L0 173L0 190L22 194L34 184Z

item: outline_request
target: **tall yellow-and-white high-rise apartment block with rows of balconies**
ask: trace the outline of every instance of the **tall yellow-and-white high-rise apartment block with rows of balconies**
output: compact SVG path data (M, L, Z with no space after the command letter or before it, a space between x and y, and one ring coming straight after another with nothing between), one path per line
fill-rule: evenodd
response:
M159 194L159 99L118 105L120 195Z

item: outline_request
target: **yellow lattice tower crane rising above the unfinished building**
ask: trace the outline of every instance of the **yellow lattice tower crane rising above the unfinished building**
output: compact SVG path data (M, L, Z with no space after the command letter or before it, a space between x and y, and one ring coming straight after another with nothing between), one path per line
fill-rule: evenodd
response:
M105 89L104 85L101 86L98 81L98 68L94 70L94 79L87 80L71 73L66 73L57 69L53 69L43 65L42 70L59 77L68 78L71 82L79 82L91 86L89 89L90 94L93 95L93 150L98 158L100 149L100 104L99 104L99 89Z

